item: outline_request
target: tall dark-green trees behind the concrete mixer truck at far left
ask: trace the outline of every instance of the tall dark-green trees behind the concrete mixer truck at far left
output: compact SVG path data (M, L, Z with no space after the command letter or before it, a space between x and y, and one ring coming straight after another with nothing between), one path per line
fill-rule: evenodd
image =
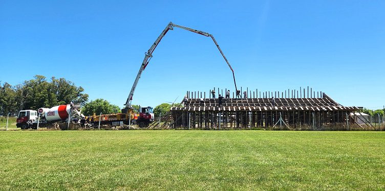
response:
M19 110L51 108L71 102L84 105L89 96L83 91L81 86L77 87L65 78L47 80L41 75L17 85L0 81L0 115L17 115Z

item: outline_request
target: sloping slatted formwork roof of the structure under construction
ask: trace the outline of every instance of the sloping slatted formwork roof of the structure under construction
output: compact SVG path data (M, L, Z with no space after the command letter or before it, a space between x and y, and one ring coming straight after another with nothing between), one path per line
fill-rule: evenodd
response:
M273 106L270 98L222 99L219 106L217 99L187 99L182 107L172 107L170 110L181 111L265 111L265 110L311 110L311 111L354 111L358 107L345 107L323 93L323 98L275 98Z

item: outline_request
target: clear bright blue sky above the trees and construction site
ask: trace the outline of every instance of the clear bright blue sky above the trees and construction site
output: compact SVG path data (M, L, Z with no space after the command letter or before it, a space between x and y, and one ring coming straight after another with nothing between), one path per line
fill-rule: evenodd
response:
M144 52L169 21L213 34L243 88L311 86L345 106L385 105L385 1L3 0L0 80L63 77L90 100L123 107ZM234 89L210 38L174 29L153 56L133 104Z

